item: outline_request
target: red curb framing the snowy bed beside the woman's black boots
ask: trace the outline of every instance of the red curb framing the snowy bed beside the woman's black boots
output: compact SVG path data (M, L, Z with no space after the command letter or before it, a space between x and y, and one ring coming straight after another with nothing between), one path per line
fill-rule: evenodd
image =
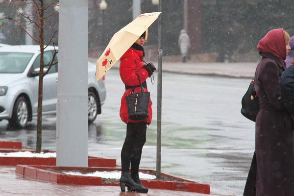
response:
M16 174L27 179L46 181L57 184L91 185L91 186L119 186L119 183L103 182L101 177L69 175L60 173L60 171L78 171L78 172L96 172L96 171L120 171L120 168L102 168L102 167L58 167L58 166L31 166L17 165ZM59 172L58 172L59 171ZM140 170L156 175L154 170ZM141 180L142 184L152 189L166 189L173 191L195 192L210 194L210 185L197 182L191 179L181 178L172 174L161 173L163 178L169 177L177 181L166 180Z

